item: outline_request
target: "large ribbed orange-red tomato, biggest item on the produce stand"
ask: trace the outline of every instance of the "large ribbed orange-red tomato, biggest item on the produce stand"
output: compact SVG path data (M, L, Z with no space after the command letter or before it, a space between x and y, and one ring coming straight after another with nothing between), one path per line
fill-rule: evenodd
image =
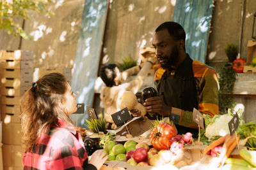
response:
M176 135L175 127L166 122L161 122L150 133L150 143L157 150L168 150L172 145L171 139Z

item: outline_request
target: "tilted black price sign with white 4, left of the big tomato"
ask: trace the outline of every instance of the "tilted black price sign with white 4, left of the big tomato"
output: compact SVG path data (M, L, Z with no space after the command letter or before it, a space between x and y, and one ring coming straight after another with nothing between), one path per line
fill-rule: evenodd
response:
M132 118L127 108L124 108L124 109L112 114L111 117L113 118L113 120L117 126L124 124L125 121Z

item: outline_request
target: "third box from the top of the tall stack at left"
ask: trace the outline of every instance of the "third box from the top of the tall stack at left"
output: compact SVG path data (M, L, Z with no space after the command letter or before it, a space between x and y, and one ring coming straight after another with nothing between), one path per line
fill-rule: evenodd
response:
M1 78L31 78L33 77L33 68L28 69L1 69Z

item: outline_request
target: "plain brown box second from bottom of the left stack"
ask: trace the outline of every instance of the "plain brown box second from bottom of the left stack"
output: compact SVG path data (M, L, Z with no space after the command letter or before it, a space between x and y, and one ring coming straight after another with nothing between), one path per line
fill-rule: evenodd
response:
M3 144L21 145L22 131L18 123L3 123Z

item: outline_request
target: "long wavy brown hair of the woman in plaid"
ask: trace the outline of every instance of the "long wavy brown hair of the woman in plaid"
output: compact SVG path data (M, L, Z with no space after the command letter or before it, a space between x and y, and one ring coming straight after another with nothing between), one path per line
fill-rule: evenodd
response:
M57 120L67 122L70 127L74 124L61 104L67 91L67 79L63 74L51 73L40 78L22 96L21 125L23 131L22 146L32 152L40 135L47 132L49 126L58 126Z

